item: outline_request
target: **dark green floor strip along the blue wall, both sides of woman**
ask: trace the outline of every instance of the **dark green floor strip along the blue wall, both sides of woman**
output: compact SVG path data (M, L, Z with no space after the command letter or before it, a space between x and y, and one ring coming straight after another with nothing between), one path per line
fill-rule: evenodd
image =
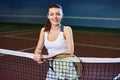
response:
M40 29L44 24L30 24L30 23L6 23L0 22L0 32ZM74 31L86 31L86 32L105 32L105 33L117 33L120 34L120 29L115 28L101 28L92 26L72 26Z

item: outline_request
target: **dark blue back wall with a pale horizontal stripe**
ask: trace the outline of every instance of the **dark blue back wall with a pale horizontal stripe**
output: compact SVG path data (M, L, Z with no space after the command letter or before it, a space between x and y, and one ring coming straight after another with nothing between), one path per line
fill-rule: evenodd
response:
M120 29L120 0L0 0L0 22L44 24L53 3L63 6L64 25Z

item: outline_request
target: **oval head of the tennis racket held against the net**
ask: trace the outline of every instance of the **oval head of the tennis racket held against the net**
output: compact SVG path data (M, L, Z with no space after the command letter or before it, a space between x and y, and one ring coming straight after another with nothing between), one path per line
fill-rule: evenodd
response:
M44 62L44 59L42 60ZM49 68L51 68L51 70L57 75L59 79L76 80L82 74L82 62L80 58L75 55L61 53L55 55L54 57L52 57L52 59L49 59L49 61Z

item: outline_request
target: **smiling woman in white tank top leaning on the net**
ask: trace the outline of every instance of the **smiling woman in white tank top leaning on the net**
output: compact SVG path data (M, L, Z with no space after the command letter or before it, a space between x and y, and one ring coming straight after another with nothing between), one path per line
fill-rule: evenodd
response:
M45 45L48 55L42 56L43 58L50 58L60 53L74 53L73 34L70 26L62 26L61 20L63 18L62 7L58 4L53 4L48 8L47 23L41 29L39 41L35 49L34 59L37 63L41 64L40 54L43 46ZM51 70L48 71L48 74ZM56 80L56 76L49 78L47 74L47 80ZM54 73L52 73L54 74ZM56 78L56 79L55 79Z

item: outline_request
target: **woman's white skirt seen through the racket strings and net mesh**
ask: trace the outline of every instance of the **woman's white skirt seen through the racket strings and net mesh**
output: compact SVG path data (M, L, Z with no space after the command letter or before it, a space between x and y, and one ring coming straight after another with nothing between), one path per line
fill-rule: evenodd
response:
M59 64L59 65L65 64L67 66L61 66L61 68L60 68L60 66L57 66L57 64ZM77 76L77 73L73 66L74 66L73 63L67 64L65 62L58 62L58 63L53 64L53 68L54 67L59 67L59 68L55 68L56 69L55 72L51 68L49 68L48 72L47 72L46 80L64 80L64 78L62 76L68 76L67 80L78 80L78 78L75 79L75 77ZM60 70L60 69L62 69L62 70ZM61 71L65 71L65 72L62 73ZM60 73L58 73L58 72L60 72ZM68 75L67 75L67 73L68 73Z

